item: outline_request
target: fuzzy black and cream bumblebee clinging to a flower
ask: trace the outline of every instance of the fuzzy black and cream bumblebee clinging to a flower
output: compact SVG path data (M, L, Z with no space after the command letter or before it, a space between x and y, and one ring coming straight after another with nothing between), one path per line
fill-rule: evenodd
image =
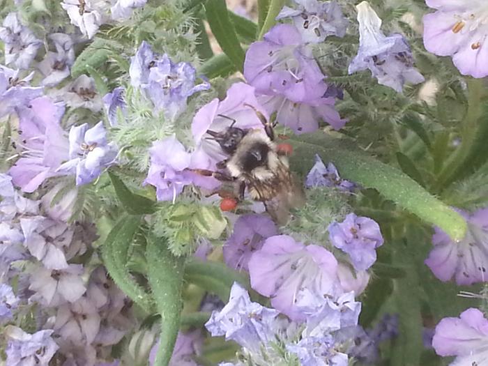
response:
M275 143L273 125L256 108L247 107L254 109L264 129L237 128L235 120L220 115L232 121L231 125L222 132L208 130L207 133L229 158L218 163L221 171L197 170L220 181L238 183L239 199L243 199L247 188L252 199L264 203L273 220L284 224L291 208L305 204L305 193L289 169L289 151L283 151Z

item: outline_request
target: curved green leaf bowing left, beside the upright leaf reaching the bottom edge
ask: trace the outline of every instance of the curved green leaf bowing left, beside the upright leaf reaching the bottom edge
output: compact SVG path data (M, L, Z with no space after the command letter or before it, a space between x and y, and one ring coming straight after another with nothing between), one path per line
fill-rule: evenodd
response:
M139 229L140 222L140 216L121 218L109 232L105 243L102 245L102 258L110 277L117 286L142 309L151 312L153 306L151 296L135 282L125 267L128 248L137 229Z

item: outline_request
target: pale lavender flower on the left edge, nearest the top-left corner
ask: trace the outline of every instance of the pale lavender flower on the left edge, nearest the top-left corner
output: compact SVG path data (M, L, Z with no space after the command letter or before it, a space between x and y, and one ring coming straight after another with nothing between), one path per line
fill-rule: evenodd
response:
M0 26L0 39L5 45L5 63L27 69L42 44L32 31L20 23L17 13L8 13Z

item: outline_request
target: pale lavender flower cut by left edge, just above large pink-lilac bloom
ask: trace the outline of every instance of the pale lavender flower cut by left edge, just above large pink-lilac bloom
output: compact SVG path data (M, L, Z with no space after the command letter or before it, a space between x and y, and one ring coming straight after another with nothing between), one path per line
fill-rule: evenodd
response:
M29 86L32 77L33 73L20 79L19 70L0 65L0 118L43 95L43 88Z

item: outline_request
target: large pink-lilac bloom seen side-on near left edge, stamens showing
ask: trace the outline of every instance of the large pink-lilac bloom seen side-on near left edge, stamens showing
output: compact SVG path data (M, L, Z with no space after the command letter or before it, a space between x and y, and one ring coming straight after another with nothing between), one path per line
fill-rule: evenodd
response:
M47 97L32 100L19 114L22 156L8 174L24 192L33 192L43 181L59 175L56 169L68 160L68 139L59 125L64 107Z

